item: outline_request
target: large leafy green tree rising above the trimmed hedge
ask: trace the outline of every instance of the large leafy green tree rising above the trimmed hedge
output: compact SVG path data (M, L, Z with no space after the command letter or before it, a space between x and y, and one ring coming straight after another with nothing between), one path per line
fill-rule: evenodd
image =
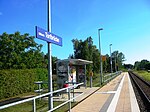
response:
M34 38L19 32L0 35L0 69L44 68L47 61L41 52L42 45Z

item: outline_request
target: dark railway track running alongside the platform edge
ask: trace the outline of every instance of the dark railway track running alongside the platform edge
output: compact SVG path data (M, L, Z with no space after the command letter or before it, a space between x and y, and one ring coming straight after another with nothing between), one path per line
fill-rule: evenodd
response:
M150 112L150 83L143 80L137 74L129 71L133 82L135 94L141 111ZM139 98L140 97L140 98Z

